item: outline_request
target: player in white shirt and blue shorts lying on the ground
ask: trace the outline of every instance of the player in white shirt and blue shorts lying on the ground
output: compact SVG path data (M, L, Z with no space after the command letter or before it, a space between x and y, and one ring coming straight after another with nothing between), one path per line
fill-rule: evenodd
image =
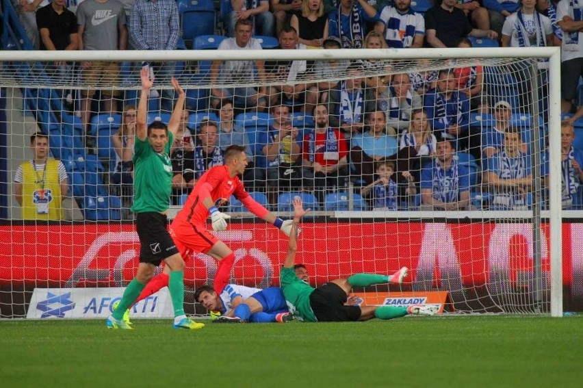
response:
M281 289L265 289L229 284L218 294L213 287L203 285L194 292L194 300L211 311L220 311L214 322L287 322L292 315Z

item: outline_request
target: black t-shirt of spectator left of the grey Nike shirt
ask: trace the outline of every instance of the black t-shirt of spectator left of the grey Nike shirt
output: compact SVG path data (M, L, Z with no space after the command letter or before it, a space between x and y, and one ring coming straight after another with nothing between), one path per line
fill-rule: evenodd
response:
M36 11L36 25L39 31L41 28L49 29L49 36L55 44L55 48L64 50L70 43L70 34L77 33L77 16L66 8L63 8L61 14L57 14L53 10L53 6L49 4ZM42 39L40 40L40 49L47 49Z

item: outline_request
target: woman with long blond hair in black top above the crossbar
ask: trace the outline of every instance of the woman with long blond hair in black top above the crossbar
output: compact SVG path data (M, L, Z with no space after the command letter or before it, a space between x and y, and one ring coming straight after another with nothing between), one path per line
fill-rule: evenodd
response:
M328 15L324 14L324 1L302 1L301 12L292 14L289 25L298 31L298 42L308 49L321 49L328 38Z

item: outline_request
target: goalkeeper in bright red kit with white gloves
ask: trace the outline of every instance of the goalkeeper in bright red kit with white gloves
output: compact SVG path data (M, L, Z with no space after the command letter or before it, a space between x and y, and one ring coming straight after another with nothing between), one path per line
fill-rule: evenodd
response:
M234 195L252 214L273 224L286 235L289 236L292 230L292 220L277 218L245 191L239 175L243 174L247 164L244 146L227 147L224 151L224 165L211 168L198 179L184 207L170 225L170 235L183 258L192 253L205 253L219 262L214 281L214 289L218 294L229 283L231 268L235 263L233 250L208 231L205 225L207 218L211 216L214 231L226 230L226 220L231 216L219 211L219 205L223 205ZM164 268L164 272L155 276L135 303L166 287L168 271L168 268Z

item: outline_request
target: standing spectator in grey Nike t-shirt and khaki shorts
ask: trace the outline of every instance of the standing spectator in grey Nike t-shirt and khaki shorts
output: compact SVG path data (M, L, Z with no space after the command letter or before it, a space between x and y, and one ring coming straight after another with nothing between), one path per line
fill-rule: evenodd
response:
M117 0L85 0L77 7L79 50L125 50L127 28L123 5ZM112 86L119 83L117 62L81 62L84 83ZM81 121L88 132L94 90L83 90ZM118 90L103 90L105 112L116 113Z

